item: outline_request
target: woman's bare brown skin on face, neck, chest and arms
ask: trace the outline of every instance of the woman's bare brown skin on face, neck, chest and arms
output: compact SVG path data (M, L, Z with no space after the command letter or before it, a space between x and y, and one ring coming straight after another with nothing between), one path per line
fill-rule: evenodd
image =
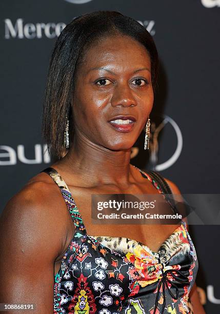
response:
M103 228L91 223L92 194L158 193L130 164L131 148L145 127L153 100L151 63L145 47L127 36L103 38L87 50L79 64L72 104L74 143L52 167L68 185L88 234L134 239L156 252L178 225ZM131 132L118 132L107 122L117 115L135 116ZM174 194L181 195L173 182L167 182ZM34 176L8 202L1 222L4 291L0 302L32 302L37 312L52 312L54 273L61 266L74 225L50 176ZM205 313L196 285L191 292L194 313Z

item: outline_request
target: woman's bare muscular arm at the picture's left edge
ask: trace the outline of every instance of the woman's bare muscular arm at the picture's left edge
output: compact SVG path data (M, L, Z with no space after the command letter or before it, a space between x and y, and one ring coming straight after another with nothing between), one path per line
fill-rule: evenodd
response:
M27 313L53 312L54 260L66 230L60 218L43 182L29 184L8 202L0 222L0 303L34 304Z

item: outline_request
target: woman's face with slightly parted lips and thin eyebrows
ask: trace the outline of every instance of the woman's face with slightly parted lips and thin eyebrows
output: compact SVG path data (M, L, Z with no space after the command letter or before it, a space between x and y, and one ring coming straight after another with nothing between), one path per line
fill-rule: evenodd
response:
M108 149L130 149L145 127L153 99L146 48L129 36L103 38L78 66L75 135Z

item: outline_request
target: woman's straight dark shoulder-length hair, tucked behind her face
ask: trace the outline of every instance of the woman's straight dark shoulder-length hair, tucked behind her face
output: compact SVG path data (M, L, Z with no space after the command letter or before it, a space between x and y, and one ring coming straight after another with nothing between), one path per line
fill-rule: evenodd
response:
M96 11L78 16L61 32L55 43L48 70L43 107L42 133L49 153L61 159L66 116L69 118L70 146L73 141L72 97L77 65L85 50L99 39L114 34L134 38L148 51L151 60L152 85L155 90L158 55L152 36L135 19L115 11Z

